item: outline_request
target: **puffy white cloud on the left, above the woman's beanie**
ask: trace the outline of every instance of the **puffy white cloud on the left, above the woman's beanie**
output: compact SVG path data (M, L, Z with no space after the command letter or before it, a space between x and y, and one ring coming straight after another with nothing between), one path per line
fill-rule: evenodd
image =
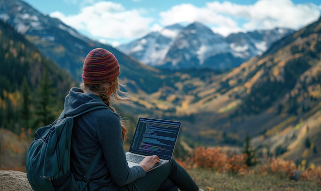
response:
M121 4L98 2L83 7L76 15L61 12L50 16L61 19L76 30L88 31L96 38L135 38L150 31L151 17L144 10L126 10Z

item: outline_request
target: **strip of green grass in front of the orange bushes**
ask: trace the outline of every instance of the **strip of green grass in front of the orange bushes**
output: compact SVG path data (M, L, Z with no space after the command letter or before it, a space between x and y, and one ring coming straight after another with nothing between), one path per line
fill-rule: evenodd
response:
M229 175L216 174L211 169L190 168L187 170L197 185L206 190L233 190L233 191L317 191L321 190L317 180L294 181L289 178L280 178L277 175Z

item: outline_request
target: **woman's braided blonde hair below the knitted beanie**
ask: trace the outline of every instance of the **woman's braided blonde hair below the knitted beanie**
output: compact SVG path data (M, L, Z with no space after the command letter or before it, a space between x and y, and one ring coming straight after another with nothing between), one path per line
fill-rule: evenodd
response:
M103 82L100 84L87 84L82 82L80 84L80 87L83 91L85 91L86 89L89 89L93 92L98 92L99 96L102 98L104 103L108 105L108 107L114 113L117 113L117 112L110 104L111 99L115 100L116 102L131 101L128 93L121 90L121 88L125 88L125 86L118 81L118 78L116 78L113 81ZM123 141L125 141L127 138L128 128L125 124L125 121L122 119L121 119L121 125L122 125Z

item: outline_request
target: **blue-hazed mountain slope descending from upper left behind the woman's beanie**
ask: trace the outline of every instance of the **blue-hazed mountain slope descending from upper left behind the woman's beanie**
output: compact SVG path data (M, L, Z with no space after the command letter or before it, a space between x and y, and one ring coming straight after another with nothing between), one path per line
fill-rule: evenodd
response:
M147 92L157 90L153 89L155 86L144 86L146 80L158 83L155 69L138 63L109 45L79 34L60 20L43 15L21 0L0 0L0 12L1 19L23 34L41 53L69 71L78 81L81 80L83 61L88 52L101 47L117 57L122 66L120 77L128 83L128 86L132 88L140 86ZM149 75L142 79L141 74Z

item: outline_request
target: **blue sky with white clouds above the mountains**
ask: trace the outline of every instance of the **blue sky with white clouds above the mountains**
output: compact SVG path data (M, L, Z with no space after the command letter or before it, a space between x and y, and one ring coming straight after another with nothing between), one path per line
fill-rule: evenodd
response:
M79 33L118 46L152 31L200 22L214 33L298 30L320 17L319 0L22 0Z

